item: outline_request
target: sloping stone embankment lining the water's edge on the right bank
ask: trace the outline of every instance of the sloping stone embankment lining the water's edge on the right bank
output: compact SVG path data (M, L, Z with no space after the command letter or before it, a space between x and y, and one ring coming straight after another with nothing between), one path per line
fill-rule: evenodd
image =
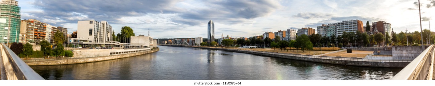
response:
M162 45L162 46L193 47L193 46L182 46L182 45ZM224 51L231 51L231 52L238 52L238 53L254 54L259 56L269 56L269 57L284 58L284 59L291 59L291 60L301 60L301 61L318 62L318 63L331 63L331 64L350 65L350 66L403 68L412 61L412 60L367 60L361 58L311 56L311 55L300 55L300 54L271 53L271 52L248 51L248 50L234 50L234 49L226 49L226 48L196 47L196 46L194 48L224 50Z

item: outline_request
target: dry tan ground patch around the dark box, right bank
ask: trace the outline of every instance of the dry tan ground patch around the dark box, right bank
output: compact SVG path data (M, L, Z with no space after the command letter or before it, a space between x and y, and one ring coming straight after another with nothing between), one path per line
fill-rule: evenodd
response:
M358 57L364 58L368 54L373 54L373 51L352 50L352 53L346 53L346 50L337 53L326 54L325 56L341 56L341 57Z

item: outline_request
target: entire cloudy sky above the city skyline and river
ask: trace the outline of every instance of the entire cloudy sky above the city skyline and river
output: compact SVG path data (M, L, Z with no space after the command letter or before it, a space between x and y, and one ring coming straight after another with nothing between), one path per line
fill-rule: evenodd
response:
M37 19L77 31L79 20L105 20L119 33L154 38L207 37L213 20L216 37L249 37L288 28L317 28L343 20L391 23L395 32L420 30L417 0L18 0L21 18ZM422 26L435 17L435 0L421 0ZM433 20L435 23L435 20ZM432 24L432 28L435 25Z

